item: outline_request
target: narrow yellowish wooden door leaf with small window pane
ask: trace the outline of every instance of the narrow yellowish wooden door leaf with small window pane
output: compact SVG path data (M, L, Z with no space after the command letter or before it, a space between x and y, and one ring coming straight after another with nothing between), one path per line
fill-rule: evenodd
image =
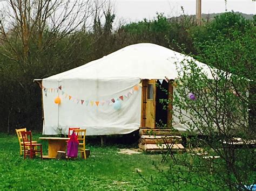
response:
M146 96L145 126L154 128L156 126L156 80L148 81Z

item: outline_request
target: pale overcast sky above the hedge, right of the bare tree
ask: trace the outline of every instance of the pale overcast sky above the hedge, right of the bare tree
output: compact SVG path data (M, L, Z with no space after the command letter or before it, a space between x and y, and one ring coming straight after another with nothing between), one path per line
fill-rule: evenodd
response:
M188 15L196 14L196 0L110 0L114 4L114 11L118 19L126 22L138 21L143 18L156 16L156 12L165 13L166 16L181 15L181 6ZM202 13L219 13L239 11L255 14L256 2L253 0L201 0Z

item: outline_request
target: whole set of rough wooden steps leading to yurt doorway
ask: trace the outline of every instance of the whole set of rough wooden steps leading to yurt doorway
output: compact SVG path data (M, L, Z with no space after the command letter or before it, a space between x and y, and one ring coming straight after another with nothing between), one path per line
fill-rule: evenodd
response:
M139 134L139 148L144 151L185 150L180 132L171 129L141 128Z

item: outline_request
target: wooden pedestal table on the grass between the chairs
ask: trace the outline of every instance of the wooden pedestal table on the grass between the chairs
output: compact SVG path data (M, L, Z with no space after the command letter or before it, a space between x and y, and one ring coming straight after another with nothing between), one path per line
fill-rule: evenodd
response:
M55 159L58 151L66 151L66 141L64 137L39 137L41 140L48 140L48 155L43 158Z

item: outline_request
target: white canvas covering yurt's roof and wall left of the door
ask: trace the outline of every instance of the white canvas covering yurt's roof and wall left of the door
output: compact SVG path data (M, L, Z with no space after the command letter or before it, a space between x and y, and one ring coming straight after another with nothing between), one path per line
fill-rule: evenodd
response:
M43 134L67 134L70 127L86 129L86 135L126 134L139 129L140 80L176 79L177 63L184 59L192 58L162 46L136 44L43 79ZM208 66L196 62L211 78ZM134 90L135 86L138 90ZM60 104L54 103L57 96L61 99ZM119 99L121 106L117 109L111 100L120 96L123 100ZM110 102L102 105L107 101ZM178 127L183 130L181 124Z

